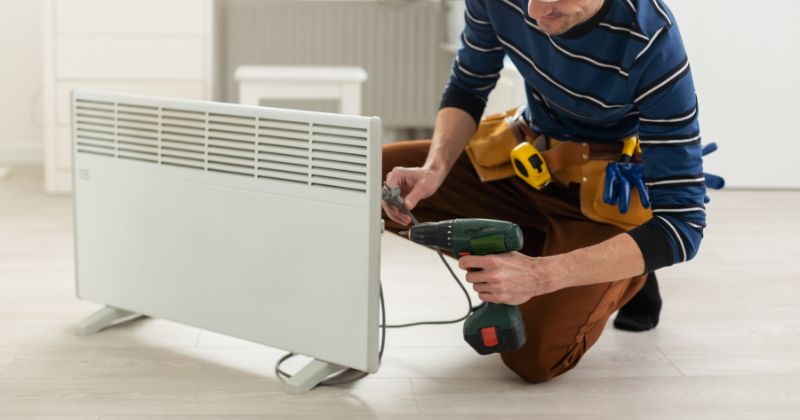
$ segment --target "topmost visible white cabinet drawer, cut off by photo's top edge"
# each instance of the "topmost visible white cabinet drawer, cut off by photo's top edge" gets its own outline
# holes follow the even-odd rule
[[[56,34],[203,34],[210,4],[199,0],[55,0]]]

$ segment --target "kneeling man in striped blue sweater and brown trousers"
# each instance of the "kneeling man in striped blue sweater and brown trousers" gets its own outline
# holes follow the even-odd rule
[[[697,252],[705,183],[695,90],[661,0],[466,3],[462,47],[433,139],[386,146],[384,175],[421,221],[485,217],[520,225],[522,252],[465,256],[459,266],[482,269],[466,274],[482,300],[519,305],[528,341],[502,358],[522,378],[541,382],[578,363],[608,317],[642,289],[646,273]],[[530,128],[549,147],[588,144],[585,163],[556,174],[564,182],[542,191],[517,177],[482,183],[463,153],[506,55],[526,81]],[[615,209],[617,221],[603,219],[591,201],[603,185],[599,165],[614,159],[603,152],[621,150],[632,135],[640,139],[652,211],[641,217]],[[396,208],[384,210],[394,228],[410,222]]]

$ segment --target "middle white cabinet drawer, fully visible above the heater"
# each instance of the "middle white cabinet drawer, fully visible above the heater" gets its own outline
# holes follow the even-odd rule
[[[201,37],[62,37],[55,45],[56,78],[202,80],[205,44]]]

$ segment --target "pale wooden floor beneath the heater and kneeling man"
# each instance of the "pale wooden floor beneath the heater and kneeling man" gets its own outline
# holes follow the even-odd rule
[[[0,180],[0,420],[800,419],[800,192],[715,193],[701,254],[660,273],[661,325],[608,328],[549,383],[454,325],[391,331],[378,374],[293,396],[276,349],[153,319],[75,336],[99,305],[74,297],[71,199],[41,190],[37,167]],[[386,236],[382,273],[390,322],[464,309],[428,250]]]

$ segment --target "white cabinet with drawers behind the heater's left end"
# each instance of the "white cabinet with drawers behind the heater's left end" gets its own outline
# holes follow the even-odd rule
[[[212,98],[213,0],[43,0],[45,189],[72,187],[70,92]]]

